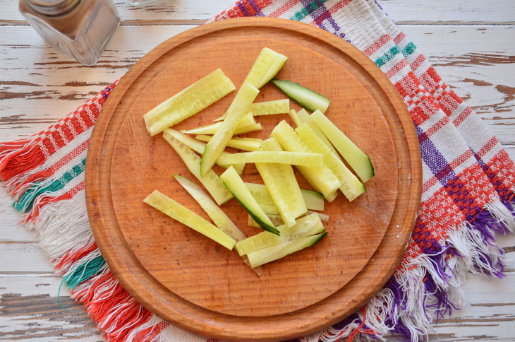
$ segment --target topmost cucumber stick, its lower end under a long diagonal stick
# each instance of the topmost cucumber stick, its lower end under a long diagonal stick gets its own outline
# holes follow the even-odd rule
[[[268,47],[264,47],[243,82],[248,82],[255,88],[260,89],[277,75],[287,60],[288,57],[284,54],[279,54]]]

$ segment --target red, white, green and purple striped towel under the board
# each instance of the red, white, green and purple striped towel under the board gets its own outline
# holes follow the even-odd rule
[[[502,276],[495,235],[515,230],[515,167],[480,118],[444,83],[373,0],[241,0],[210,21],[271,16],[350,42],[392,81],[411,114],[423,159],[418,219],[398,269],[356,314],[301,341],[394,334],[411,341],[462,304],[467,273]],[[116,281],[97,249],[84,196],[92,127],[116,83],[25,140],[0,144],[0,177],[37,232],[57,276],[108,341],[206,341],[163,322]],[[212,340],[208,340],[212,341]]]

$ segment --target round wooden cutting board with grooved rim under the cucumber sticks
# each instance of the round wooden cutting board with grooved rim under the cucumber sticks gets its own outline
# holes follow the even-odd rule
[[[289,57],[278,78],[331,99],[327,117],[375,167],[367,192],[325,203],[329,234],[314,247],[260,267],[233,250],[143,204],[154,189],[209,220],[173,179],[198,182],[161,134],[147,134],[143,114],[221,68],[239,87],[263,47]],[[174,129],[210,124],[227,95]],[[271,83],[256,102],[286,98]],[[291,101],[291,107],[300,107]],[[256,117],[267,138],[287,114]],[[292,124],[293,125],[293,124]],[[214,167],[220,174],[222,168]],[[167,40],[131,68],[109,96],[93,131],[86,164],[87,209],[102,256],[136,300],[163,319],[226,340],[284,340],[338,322],[392,275],[413,229],[420,201],[420,154],[406,107],[386,76],[339,37],[310,25],[242,18],[202,25]],[[247,182],[260,182],[246,165]],[[301,187],[310,189],[298,175]],[[222,206],[246,235],[248,214]]]

